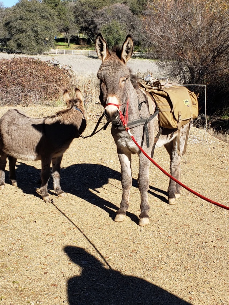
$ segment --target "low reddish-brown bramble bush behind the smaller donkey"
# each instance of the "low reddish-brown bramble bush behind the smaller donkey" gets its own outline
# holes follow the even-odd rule
[[[71,69],[23,57],[0,60],[1,106],[52,104],[73,88],[77,77]]]

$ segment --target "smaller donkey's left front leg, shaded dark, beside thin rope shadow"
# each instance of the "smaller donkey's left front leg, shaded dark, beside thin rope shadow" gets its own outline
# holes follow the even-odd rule
[[[48,180],[50,177],[51,158],[41,158],[41,187],[40,194],[44,201],[51,202],[48,195]]]

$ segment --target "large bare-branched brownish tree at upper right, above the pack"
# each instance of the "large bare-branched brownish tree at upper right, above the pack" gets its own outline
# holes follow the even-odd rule
[[[220,77],[228,81],[228,1],[151,0],[143,26],[168,76],[184,84],[207,84],[209,90],[219,86]],[[229,89],[223,90],[225,100]]]

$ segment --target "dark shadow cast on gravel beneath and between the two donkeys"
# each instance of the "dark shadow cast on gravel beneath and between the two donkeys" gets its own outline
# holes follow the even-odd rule
[[[110,178],[121,181],[121,173],[107,166],[91,163],[74,164],[61,169],[61,187],[64,192],[80,197],[93,205],[98,206],[114,219],[118,206],[97,195],[101,192],[101,190],[98,189],[104,188],[104,186],[109,183]],[[40,195],[36,193],[36,188],[40,187],[39,180],[40,169],[17,162],[18,186],[24,193],[40,197]],[[136,179],[133,179],[133,187],[137,187]],[[120,188],[122,188],[121,184]],[[50,194],[56,195],[54,192],[50,191],[50,189],[53,189],[52,178],[50,178],[48,189]],[[113,187],[112,191],[117,193],[116,186]],[[167,198],[165,197],[167,196],[167,192],[150,186],[148,193],[167,203]],[[58,200],[61,200],[58,197],[56,198],[57,202]],[[117,200],[121,201],[121,195],[117,194]],[[132,221],[138,223],[139,219],[135,214],[127,211],[126,215]]]

